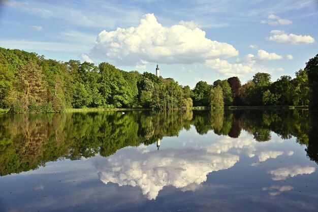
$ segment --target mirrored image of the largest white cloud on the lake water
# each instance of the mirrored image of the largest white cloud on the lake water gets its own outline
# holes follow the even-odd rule
[[[211,154],[204,149],[164,149],[160,154],[153,154],[132,148],[129,153],[92,160],[103,183],[140,187],[143,195],[151,200],[165,186],[195,191],[209,173],[234,166],[239,157]]]

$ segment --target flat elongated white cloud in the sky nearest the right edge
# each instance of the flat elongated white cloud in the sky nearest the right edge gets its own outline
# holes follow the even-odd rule
[[[272,36],[268,37],[267,39],[270,41],[278,42],[278,43],[288,43],[288,44],[301,44],[301,43],[314,43],[315,40],[311,36],[302,36],[302,35],[295,35],[295,34],[287,34],[284,31],[280,30],[272,30]]]

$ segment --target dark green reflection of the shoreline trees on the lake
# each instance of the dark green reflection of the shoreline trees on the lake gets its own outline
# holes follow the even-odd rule
[[[63,158],[78,160],[96,154],[107,157],[125,146],[149,145],[163,137],[178,136],[181,130],[189,130],[191,126],[200,135],[213,131],[229,138],[239,138],[244,130],[259,142],[270,140],[271,132],[282,139],[294,136],[297,142],[307,146],[310,160],[318,163],[317,120],[318,115],[308,110],[125,111],[124,115],[118,111],[2,114],[0,175],[36,169],[45,166],[46,162]],[[267,153],[270,157],[279,154]],[[259,157],[260,162],[264,160]]]

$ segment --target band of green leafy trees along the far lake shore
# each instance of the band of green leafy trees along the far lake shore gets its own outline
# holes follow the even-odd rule
[[[270,74],[257,72],[243,85],[233,76],[213,84],[199,81],[191,89],[172,78],[126,72],[106,62],[60,62],[0,47],[0,108],[42,113],[67,108],[318,107],[318,54],[295,74],[272,82]]]

